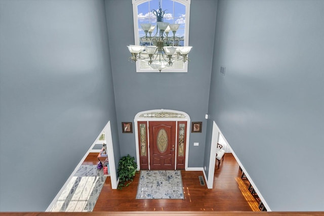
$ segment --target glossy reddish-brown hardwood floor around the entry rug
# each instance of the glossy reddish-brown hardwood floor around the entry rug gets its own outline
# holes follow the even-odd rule
[[[83,164],[97,164],[98,153],[90,153]],[[139,173],[123,190],[112,190],[110,178],[101,190],[93,211],[258,211],[258,201],[251,198],[248,180],[231,153],[226,153],[220,168],[215,168],[214,188],[201,186],[202,171],[182,171],[185,199],[135,199]],[[250,197],[249,197],[250,195]]]

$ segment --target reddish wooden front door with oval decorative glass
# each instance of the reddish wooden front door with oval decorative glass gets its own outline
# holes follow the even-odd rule
[[[176,122],[150,121],[150,169],[175,170]]]

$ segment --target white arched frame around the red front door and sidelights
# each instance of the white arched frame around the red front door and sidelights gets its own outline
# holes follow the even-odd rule
[[[151,113],[176,113],[179,114],[179,117],[156,117],[152,116]],[[147,114],[147,117],[143,117],[143,114]],[[182,117],[181,117],[182,116]],[[186,134],[186,153],[185,153],[185,170],[188,169],[188,155],[189,155],[189,135],[190,135],[190,117],[187,113],[177,110],[169,110],[169,109],[155,109],[155,110],[146,110],[139,112],[135,115],[134,118],[134,128],[135,128],[135,145],[136,145],[136,161],[137,161],[137,169],[140,170],[140,153],[139,153],[139,139],[138,139],[138,121],[146,121],[147,122],[147,147],[148,147],[148,158],[149,155],[149,132],[148,132],[148,123],[149,121],[176,121],[176,125],[178,124],[178,121],[187,121],[187,134]],[[176,130],[176,149],[178,147],[178,140],[177,140],[177,130]],[[177,154],[175,154],[175,157]],[[175,168],[177,166],[177,163],[175,162]],[[149,166],[150,167],[150,166]]]

